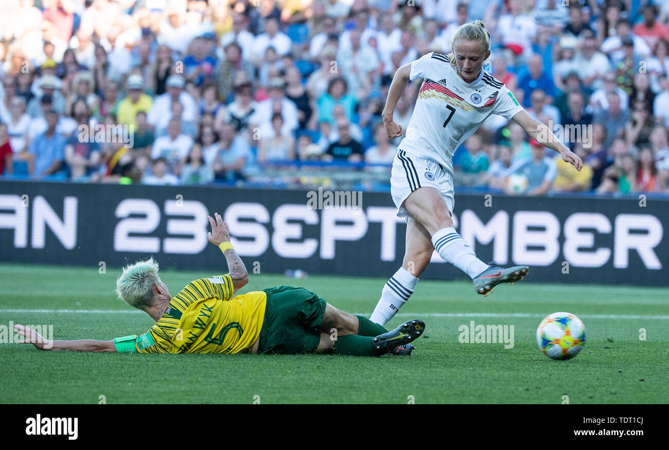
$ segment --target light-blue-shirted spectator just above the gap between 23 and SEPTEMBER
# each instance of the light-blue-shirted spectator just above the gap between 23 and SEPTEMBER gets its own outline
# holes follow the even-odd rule
[[[251,156],[248,142],[242,136],[237,136],[232,124],[224,123],[213,162],[215,179],[228,183],[244,180],[244,168]]]

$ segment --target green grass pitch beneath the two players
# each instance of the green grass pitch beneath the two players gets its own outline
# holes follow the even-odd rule
[[[0,325],[51,324],[54,338],[66,340],[141,334],[153,321],[116,299],[118,273],[111,267],[101,274],[98,267],[0,264]],[[173,295],[191,279],[210,275],[161,272]],[[409,357],[94,354],[2,343],[0,403],[96,404],[104,396],[108,404],[559,404],[565,395],[572,404],[667,403],[669,288],[571,285],[569,275],[559,281],[533,283],[530,273],[488,298],[465,281],[420,282],[387,324],[425,320],[425,334]],[[369,316],[385,282],[250,275],[241,293],[304,286],[337,308]],[[585,348],[568,361],[547,358],[535,343],[541,319],[558,311],[579,316],[587,331]],[[460,343],[458,328],[472,320],[513,325],[513,348]]]

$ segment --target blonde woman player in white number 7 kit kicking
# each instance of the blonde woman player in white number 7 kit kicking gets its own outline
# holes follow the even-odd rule
[[[488,296],[500,283],[514,283],[529,267],[486,264],[454,228],[453,154],[490,114],[513,120],[580,171],[583,162],[559,142],[547,126],[529,116],[513,94],[482,69],[490,57],[490,34],[482,21],[465,23],[451,39],[452,53],[427,53],[401,66],[393,78],[383,110],[388,136],[402,134],[393,122],[397,100],[409,80],[422,79],[405,138],[397,148],[391,195],[397,215],[406,217],[406,250],[402,267],[383,287],[372,322],[384,325],[413,293],[418,277],[436,251],[466,272],[478,294]],[[411,271],[409,270],[411,269]]]

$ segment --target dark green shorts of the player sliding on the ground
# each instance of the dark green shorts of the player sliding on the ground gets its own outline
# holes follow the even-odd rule
[[[311,353],[320,342],[325,300],[304,288],[265,289],[267,305],[258,353]]]

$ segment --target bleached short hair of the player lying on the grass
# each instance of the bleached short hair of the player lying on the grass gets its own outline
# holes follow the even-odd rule
[[[153,284],[158,281],[158,263],[150,257],[123,268],[116,279],[116,294],[132,308],[146,310],[153,304]]]

